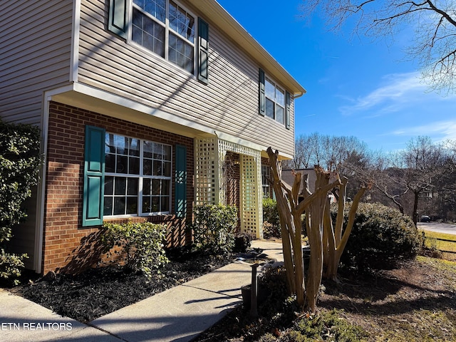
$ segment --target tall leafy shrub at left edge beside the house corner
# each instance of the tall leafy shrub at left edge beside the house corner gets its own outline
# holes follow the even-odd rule
[[[0,278],[18,283],[26,254],[9,253],[15,224],[27,217],[24,201],[38,185],[41,166],[40,130],[0,120]]]

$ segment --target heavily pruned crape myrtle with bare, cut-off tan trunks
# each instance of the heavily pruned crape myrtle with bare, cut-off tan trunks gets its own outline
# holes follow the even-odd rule
[[[284,264],[289,291],[296,294],[296,301],[300,306],[307,307],[314,312],[316,310],[318,289],[323,276],[323,266],[326,266],[325,276],[336,279],[337,266],[353,226],[354,214],[358,202],[366,189],[362,188],[356,195],[349,213],[348,224],[345,229],[342,229],[346,178],[341,180],[337,173],[331,174],[331,172],[324,171],[322,167],[315,166],[315,191],[311,193],[307,179],[304,180],[306,190],[304,200],[300,202],[301,173],[295,173],[294,184],[289,190],[281,180],[281,164],[278,160],[279,152],[273,152],[271,147],[268,148],[267,152],[271,165],[271,182],[276,194],[277,209],[279,211]],[[333,227],[329,211],[328,192],[335,188],[339,194],[339,212],[336,225]],[[311,249],[307,281],[304,279],[304,260],[301,245],[303,226],[301,215],[304,213],[306,233],[309,237]],[[341,216],[339,217],[340,214]]]

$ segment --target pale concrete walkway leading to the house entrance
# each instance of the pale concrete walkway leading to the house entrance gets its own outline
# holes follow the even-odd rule
[[[252,247],[283,261],[280,243],[256,240]],[[251,269],[234,262],[88,324],[0,289],[0,341],[190,341],[242,304]]]

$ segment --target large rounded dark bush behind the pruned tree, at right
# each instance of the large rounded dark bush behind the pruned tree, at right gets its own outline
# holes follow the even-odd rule
[[[344,225],[347,222],[346,208]],[[336,208],[333,208],[333,219]],[[358,271],[389,269],[397,261],[412,259],[423,245],[410,217],[383,204],[360,203],[341,262]]]

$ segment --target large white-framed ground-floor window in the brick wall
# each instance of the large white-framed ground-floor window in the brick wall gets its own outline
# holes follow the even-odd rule
[[[103,216],[168,214],[172,147],[106,133]]]

